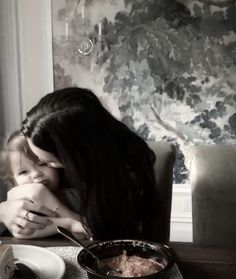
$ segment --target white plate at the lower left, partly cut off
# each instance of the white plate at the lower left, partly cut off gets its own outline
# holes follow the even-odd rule
[[[16,262],[31,268],[40,279],[61,279],[65,273],[65,262],[55,253],[38,246],[12,244]]]

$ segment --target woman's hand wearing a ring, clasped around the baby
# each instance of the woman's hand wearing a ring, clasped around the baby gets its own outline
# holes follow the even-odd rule
[[[7,200],[0,203],[0,220],[13,236],[30,235],[35,230],[46,228],[52,223],[47,217],[38,216],[30,211],[55,216],[51,210],[27,200]]]

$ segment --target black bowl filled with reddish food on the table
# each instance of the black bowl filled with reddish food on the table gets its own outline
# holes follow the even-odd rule
[[[89,279],[164,278],[175,263],[174,254],[167,245],[143,240],[98,241],[87,248],[102,265],[85,249],[77,256],[80,267]]]

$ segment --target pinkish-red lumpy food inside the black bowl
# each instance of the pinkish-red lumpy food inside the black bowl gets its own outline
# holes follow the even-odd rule
[[[164,268],[164,265],[152,259],[141,258],[139,256],[127,256],[124,250],[122,255],[104,259],[111,271],[116,271],[120,277],[141,277],[157,273]],[[109,275],[109,273],[108,273]]]

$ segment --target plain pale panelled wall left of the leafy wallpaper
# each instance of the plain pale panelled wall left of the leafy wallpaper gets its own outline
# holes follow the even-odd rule
[[[51,1],[0,1],[0,147],[53,90]],[[0,179],[0,202],[6,199]],[[0,223],[0,233],[4,226]]]

